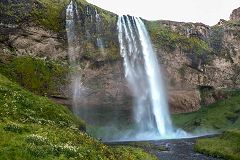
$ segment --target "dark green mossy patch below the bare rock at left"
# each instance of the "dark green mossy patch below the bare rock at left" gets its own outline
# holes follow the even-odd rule
[[[56,95],[66,83],[68,67],[54,61],[30,56],[2,55],[0,73],[40,95]]]

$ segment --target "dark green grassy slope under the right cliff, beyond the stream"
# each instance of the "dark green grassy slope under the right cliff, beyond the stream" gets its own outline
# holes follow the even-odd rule
[[[202,107],[197,112],[173,115],[175,126],[190,132],[240,128],[239,91],[231,95],[233,97]]]

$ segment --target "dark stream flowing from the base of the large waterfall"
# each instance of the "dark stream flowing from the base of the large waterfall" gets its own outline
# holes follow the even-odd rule
[[[221,160],[194,151],[198,138],[173,139],[142,142],[108,142],[107,145],[128,145],[140,147],[161,160]]]

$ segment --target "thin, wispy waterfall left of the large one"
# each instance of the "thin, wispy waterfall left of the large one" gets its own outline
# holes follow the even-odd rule
[[[81,73],[80,67],[77,62],[77,55],[79,53],[79,40],[76,30],[76,21],[79,19],[79,14],[77,12],[76,2],[71,1],[66,9],[66,32],[68,39],[68,56],[69,63],[72,68],[71,78],[71,90],[73,98],[73,110],[75,113],[78,112],[78,104],[81,99],[81,92],[83,90],[81,84]]]

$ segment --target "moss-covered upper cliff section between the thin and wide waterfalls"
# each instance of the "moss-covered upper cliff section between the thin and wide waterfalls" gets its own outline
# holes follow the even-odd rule
[[[120,58],[117,37],[117,15],[97,6],[81,1],[77,2],[77,34],[78,46],[82,50],[77,53],[80,59],[96,61],[115,61]],[[102,41],[102,48],[98,46]]]

